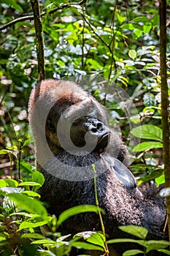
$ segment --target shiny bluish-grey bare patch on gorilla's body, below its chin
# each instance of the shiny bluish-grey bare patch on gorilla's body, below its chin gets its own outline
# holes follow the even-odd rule
[[[115,176],[126,189],[136,188],[136,180],[128,168],[115,158]]]

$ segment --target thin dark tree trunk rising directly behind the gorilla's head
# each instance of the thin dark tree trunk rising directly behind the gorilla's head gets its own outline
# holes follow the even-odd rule
[[[36,51],[38,60],[38,81],[45,79],[45,51],[42,31],[42,22],[39,12],[39,0],[31,0],[31,6],[34,13],[34,25],[36,31]]]

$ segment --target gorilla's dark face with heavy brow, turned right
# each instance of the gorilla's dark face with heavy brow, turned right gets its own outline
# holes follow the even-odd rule
[[[101,154],[109,143],[107,115],[95,99],[57,102],[46,121],[46,138],[53,154],[60,151]]]

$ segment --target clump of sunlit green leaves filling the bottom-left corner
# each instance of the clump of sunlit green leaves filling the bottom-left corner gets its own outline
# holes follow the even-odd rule
[[[79,233],[70,238],[71,235],[61,236],[57,232],[69,217],[88,211],[98,214],[98,208],[75,206],[61,213],[58,219],[51,217],[39,200],[40,195],[35,192],[44,181],[38,171],[33,173],[31,181],[1,180],[1,255],[67,255],[72,247],[103,251],[104,236],[101,233]],[[80,238],[85,238],[85,241],[79,241]]]

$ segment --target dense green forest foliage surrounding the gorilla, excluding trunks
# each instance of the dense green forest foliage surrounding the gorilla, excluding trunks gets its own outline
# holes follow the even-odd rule
[[[27,112],[28,97],[37,78],[31,3],[28,0],[1,0],[0,11],[1,255],[26,255],[26,252],[27,255],[66,255],[72,246],[105,251],[101,233],[80,233],[71,238],[61,236],[57,231],[58,225],[67,217],[83,211],[97,211],[95,207],[80,206],[56,219],[47,214],[39,201],[36,190],[42,186],[44,178],[34,167],[34,147],[31,145]],[[47,0],[40,2],[40,12],[45,37],[46,78],[98,75],[125,89],[139,113],[137,118],[131,118],[134,127],[131,133],[129,120],[120,105],[112,97],[104,100],[107,89],[103,92],[95,88],[90,93],[104,102],[115,116],[115,124],[120,124],[127,146],[131,135],[142,138],[142,142],[134,147],[137,155],[131,165],[139,184],[150,180],[162,184],[159,16],[156,1],[139,4],[137,0],[90,0],[86,3]],[[29,18],[23,19],[23,16]],[[17,23],[4,28],[5,24],[17,18],[20,18]],[[169,30],[167,32],[169,43]],[[169,67],[169,48],[167,64]],[[133,230],[136,236],[135,228]],[[80,238],[85,241],[80,241]],[[164,249],[166,244],[149,244],[145,237],[139,238],[144,252],[155,243],[154,248],[169,255]],[[125,255],[136,253],[126,252]]]

